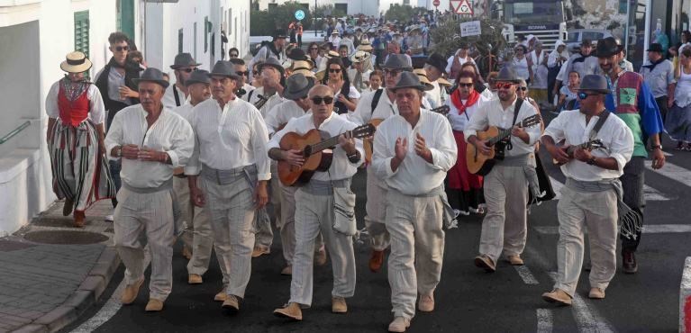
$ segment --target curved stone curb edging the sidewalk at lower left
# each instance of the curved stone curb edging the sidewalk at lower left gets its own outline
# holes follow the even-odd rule
[[[89,274],[67,301],[13,332],[55,332],[68,326],[98,301],[118,266],[120,257],[115,248],[106,246]]]

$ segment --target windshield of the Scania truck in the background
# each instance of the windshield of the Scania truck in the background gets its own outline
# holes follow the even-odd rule
[[[561,22],[559,1],[514,1],[504,3],[505,23],[530,24]]]

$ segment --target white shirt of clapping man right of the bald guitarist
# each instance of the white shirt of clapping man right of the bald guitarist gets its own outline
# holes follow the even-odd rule
[[[432,163],[415,153],[416,134],[420,133],[432,151]],[[396,157],[396,139],[408,139],[408,153],[396,171],[391,159]],[[383,121],[374,135],[372,166],[386,185],[406,195],[430,193],[444,183],[447,171],[456,164],[456,140],[446,118],[435,112],[420,111],[420,120],[413,128],[400,115]]]

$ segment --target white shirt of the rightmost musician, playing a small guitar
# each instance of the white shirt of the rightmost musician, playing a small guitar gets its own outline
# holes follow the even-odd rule
[[[550,122],[542,136],[549,136],[555,142],[566,139],[567,145],[579,145],[589,140],[590,130],[595,127],[599,118],[594,116],[586,123],[586,115],[579,110],[562,111],[559,112],[559,117]],[[623,166],[629,162],[633,154],[632,131],[621,118],[610,114],[602,128],[597,131],[596,139],[601,139],[605,148],[594,149],[593,156],[614,157],[618,169],[608,170],[590,166],[574,158],[561,166],[561,172],[565,176],[579,181],[600,181],[623,175]]]

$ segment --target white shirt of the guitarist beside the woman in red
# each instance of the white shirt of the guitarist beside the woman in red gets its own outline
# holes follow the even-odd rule
[[[477,135],[478,130],[486,130],[488,126],[496,126],[503,129],[512,127],[511,121],[514,121],[514,107],[517,100],[518,98],[515,98],[514,103],[511,103],[506,109],[502,107],[499,98],[482,104],[477,112],[470,117],[466,130],[463,131],[466,141],[468,141],[471,135]],[[528,101],[523,101],[521,109],[518,111],[516,123],[533,114],[537,114],[535,108]],[[528,133],[528,143],[523,142],[523,139],[511,136],[511,144],[514,148],[511,150],[505,149],[505,156],[516,157],[535,151],[535,142],[540,139],[541,135],[540,125],[526,127],[524,130]]]

